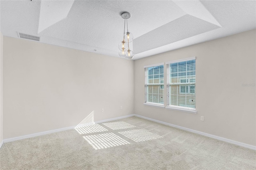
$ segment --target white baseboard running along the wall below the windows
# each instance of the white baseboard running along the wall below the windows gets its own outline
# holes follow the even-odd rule
[[[242,143],[242,142],[237,142],[235,140],[230,140],[230,139],[227,139],[227,138],[222,138],[220,136],[215,136],[215,135],[212,135],[212,134],[200,132],[200,131],[193,130],[193,129],[190,129],[190,128],[180,127],[180,126],[177,126],[177,125],[173,125],[173,124],[170,124],[170,123],[158,121],[158,120],[155,120],[155,119],[151,119],[151,118],[140,116],[140,115],[136,115],[136,114],[134,114],[134,116],[140,117],[142,119],[147,119],[147,120],[150,120],[150,121],[153,121],[153,122],[161,123],[161,124],[164,124],[164,125],[168,125],[170,127],[175,127],[175,128],[179,128],[179,129],[182,129],[182,130],[189,131],[189,132],[201,134],[203,136],[207,136],[207,137],[210,137],[210,138],[214,138],[214,139],[218,139],[218,140],[221,140],[221,141],[224,141],[224,142],[228,142],[228,143],[231,143],[231,144],[242,146],[244,148],[249,148],[249,149],[252,149],[252,150],[256,150],[256,146],[254,146],[254,145],[250,145],[250,144],[246,144],[246,143]]]

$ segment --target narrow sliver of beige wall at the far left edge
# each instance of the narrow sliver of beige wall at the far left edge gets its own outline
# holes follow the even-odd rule
[[[0,144],[3,141],[3,35],[0,32]]]

